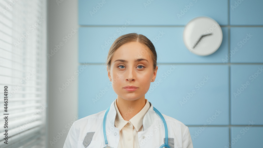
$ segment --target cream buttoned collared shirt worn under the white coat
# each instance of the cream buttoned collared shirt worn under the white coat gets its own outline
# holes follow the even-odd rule
[[[143,131],[143,117],[150,108],[150,103],[145,99],[144,107],[129,121],[123,119],[117,107],[117,99],[115,100],[115,108],[117,111],[115,126],[119,129],[120,141],[118,148],[139,148],[138,132]],[[132,108],[127,110],[127,114],[132,111]],[[125,114],[123,114],[125,116]]]

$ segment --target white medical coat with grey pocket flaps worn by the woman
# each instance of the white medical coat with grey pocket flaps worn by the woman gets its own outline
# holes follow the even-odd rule
[[[95,133],[86,148],[105,147],[102,128],[104,113],[105,110],[75,121],[69,129],[63,148],[84,148],[83,140],[89,132]],[[113,101],[107,114],[105,129],[108,146],[114,148],[118,147],[120,139],[119,129],[114,126],[116,115],[117,112]],[[174,138],[174,148],[193,148],[188,127],[174,118],[162,115],[167,124],[168,138]],[[138,132],[138,138],[140,148],[159,148],[164,144],[164,124],[159,115],[153,110],[153,105],[150,106],[143,118],[143,131]]]

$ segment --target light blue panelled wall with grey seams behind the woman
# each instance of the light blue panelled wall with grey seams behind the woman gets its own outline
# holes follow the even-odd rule
[[[136,32],[158,55],[156,81],[145,98],[187,125],[195,148],[261,147],[262,7],[259,0],[79,0],[79,117],[117,98],[106,57],[116,38]],[[223,32],[220,48],[205,57],[190,53],[182,39],[184,25],[197,16],[215,19]]]

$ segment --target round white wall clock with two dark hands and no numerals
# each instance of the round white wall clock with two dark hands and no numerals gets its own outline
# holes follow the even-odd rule
[[[210,55],[221,45],[220,25],[209,17],[196,17],[184,27],[183,40],[186,48],[197,55]]]

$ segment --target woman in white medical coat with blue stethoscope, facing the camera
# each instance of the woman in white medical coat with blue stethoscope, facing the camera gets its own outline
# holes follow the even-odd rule
[[[156,65],[155,47],[144,35],[130,33],[117,38],[109,49],[107,70],[118,97],[106,111],[75,121],[64,148],[192,148],[188,127],[158,114],[145,99],[156,77]]]

